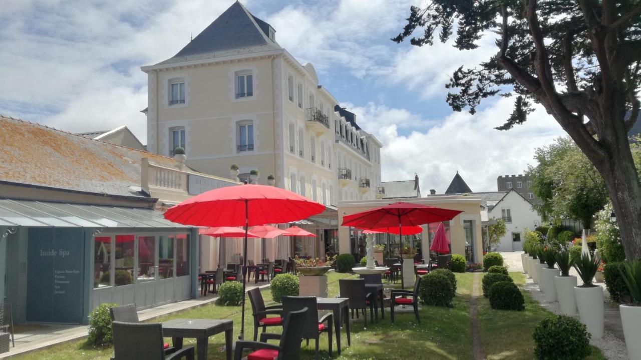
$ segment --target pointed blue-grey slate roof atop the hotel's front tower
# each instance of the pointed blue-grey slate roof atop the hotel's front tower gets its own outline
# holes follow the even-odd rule
[[[269,38],[269,28],[237,1],[178,54],[156,65],[281,49]]]

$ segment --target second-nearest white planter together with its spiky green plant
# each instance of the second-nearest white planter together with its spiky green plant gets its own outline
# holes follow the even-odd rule
[[[581,322],[587,326],[588,332],[594,339],[601,339],[603,336],[603,288],[592,284],[600,264],[601,260],[590,258],[590,254],[582,254],[581,258],[574,263],[574,268],[583,281],[583,285],[574,286],[576,307],[579,309]]]

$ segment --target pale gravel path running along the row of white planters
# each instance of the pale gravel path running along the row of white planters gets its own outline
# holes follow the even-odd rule
[[[503,256],[503,265],[508,268],[510,272],[523,272],[523,265],[521,263],[519,252],[499,252]],[[577,275],[576,270],[572,268],[570,270],[570,275]],[[580,282],[580,279],[579,279]],[[613,304],[610,303],[610,294],[605,290],[603,283],[595,282],[594,284],[600,285],[603,287],[604,299],[606,299],[605,306],[605,329],[603,333],[603,338],[599,340],[590,340],[590,344],[601,349],[603,355],[608,359],[617,359],[617,360],[627,360],[628,350],[626,349],[626,343],[623,340],[623,334],[621,331],[621,318],[619,315],[619,308],[613,307]],[[550,311],[554,314],[560,314],[560,307],[558,302],[547,302],[545,300],[545,295],[538,289],[538,285],[532,282],[532,279],[526,279],[526,283],[523,285],[524,290],[529,291],[531,297],[547,311]],[[575,316],[577,319],[579,316]]]

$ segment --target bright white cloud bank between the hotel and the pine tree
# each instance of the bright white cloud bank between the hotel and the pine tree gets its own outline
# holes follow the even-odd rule
[[[424,193],[445,192],[458,171],[472,191],[495,191],[496,178],[522,174],[533,163],[534,150],[563,135],[556,121],[537,108],[525,124],[510,131],[495,130],[512,111],[512,99],[500,98],[476,115],[452,113],[427,120],[403,109],[370,103],[352,107],[360,126],[383,143],[383,181],[420,178]],[[399,128],[415,122],[415,131],[399,135]],[[438,124],[428,127],[429,124]]]

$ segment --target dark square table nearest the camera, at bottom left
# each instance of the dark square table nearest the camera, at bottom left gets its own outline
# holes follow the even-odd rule
[[[224,331],[227,360],[231,360],[233,325],[232,320],[174,319],[162,323],[162,332],[177,350],[183,348],[183,338],[196,338],[196,359],[207,360],[209,337]]]

